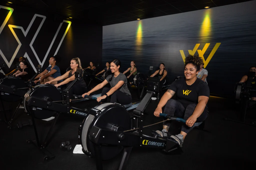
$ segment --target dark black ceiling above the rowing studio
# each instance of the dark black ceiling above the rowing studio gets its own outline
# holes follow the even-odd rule
[[[251,0],[7,0],[72,19],[90,19],[102,25],[135,21],[235,4]]]

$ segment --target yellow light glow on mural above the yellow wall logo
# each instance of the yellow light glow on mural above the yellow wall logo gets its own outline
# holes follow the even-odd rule
[[[200,29],[200,42],[209,41],[211,36],[211,9],[205,10],[204,21]]]

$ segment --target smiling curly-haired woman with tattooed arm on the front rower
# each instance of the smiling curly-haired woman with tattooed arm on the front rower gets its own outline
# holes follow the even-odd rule
[[[196,77],[202,62],[203,60],[198,55],[189,55],[185,59],[185,77],[174,81],[170,85],[154,112],[154,115],[159,117],[162,108],[165,106],[165,114],[186,120],[186,124],[182,125],[180,134],[171,136],[179,143],[180,147],[182,147],[186,135],[192,130],[194,123],[202,122],[208,116],[207,102],[210,90],[204,81]],[[176,100],[171,99],[175,93]],[[170,122],[165,121],[163,122],[163,130],[157,130],[156,132],[161,137],[167,136],[169,126]]]

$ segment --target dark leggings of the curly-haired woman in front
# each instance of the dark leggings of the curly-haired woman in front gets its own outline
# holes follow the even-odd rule
[[[183,104],[181,102],[174,100],[174,99],[170,99],[167,101],[163,113],[168,114],[170,116],[180,117],[180,118],[187,120],[193,114],[193,112],[196,108],[196,105],[197,104],[195,104],[195,103],[189,104],[185,109],[185,107],[183,106]],[[207,118],[208,113],[209,113],[209,111],[206,106],[204,112],[197,118],[196,122],[204,121]],[[164,118],[164,120],[166,120],[166,118]],[[169,127],[170,121],[163,122],[163,125]],[[182,124],[181,131],[183,131],[185,133],[189,133],[190,130],[192,130],[192,127],[188,127],[185,123]]]

